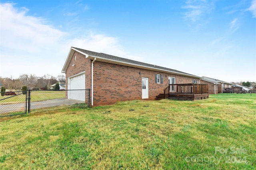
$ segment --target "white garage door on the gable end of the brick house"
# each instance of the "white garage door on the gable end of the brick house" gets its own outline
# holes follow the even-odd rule
[[[85,101],[85,74],[69,78],[68,99]]]

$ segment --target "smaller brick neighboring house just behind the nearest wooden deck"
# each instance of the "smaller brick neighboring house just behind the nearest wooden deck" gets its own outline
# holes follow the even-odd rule
[[[205,76],[200,78],[200,83],[208,84],[209,94],[223,93],[232,88],[232,83]]]

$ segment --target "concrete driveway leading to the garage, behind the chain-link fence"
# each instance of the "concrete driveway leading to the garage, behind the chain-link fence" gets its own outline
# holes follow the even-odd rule
[[[83,101],[73,100],[73,99],[52,99],[45,100],[40,102],[31,102],[30,109],[39,109],[44,107],[54,107],[54,106],[63,106],[63,105],[73,105],[84,103]],[[4,113],[13,113],[13,112],[23,112],[25,111],[25,102],[16,103],[16,104],[0,104],[0,116],[5,115]]]

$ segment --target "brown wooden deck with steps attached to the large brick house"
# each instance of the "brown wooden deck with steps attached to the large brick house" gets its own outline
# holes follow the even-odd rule
[[[156,100],[202,100],[208,97],[208,84],[169,84]]]

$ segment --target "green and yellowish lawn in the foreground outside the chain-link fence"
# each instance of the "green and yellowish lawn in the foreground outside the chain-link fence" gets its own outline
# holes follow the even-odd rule
[[[38,109],[0,122],[0,169],[256,169],[255,122],[256,94]]]

